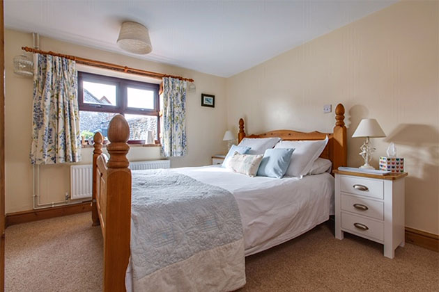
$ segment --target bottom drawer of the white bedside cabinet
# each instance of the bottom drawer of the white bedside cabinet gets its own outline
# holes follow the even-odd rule
[[[378,241],[384,240],[384,222],[341,212],[341,229],[354,232],[360,236],[365,235],[376,238]]]

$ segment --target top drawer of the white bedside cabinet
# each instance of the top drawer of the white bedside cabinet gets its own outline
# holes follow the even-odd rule
[[[383,199],[384,182],[381,179],[362,179],[361,177],[340,177],[340,190],[344,193],[364,195]]]

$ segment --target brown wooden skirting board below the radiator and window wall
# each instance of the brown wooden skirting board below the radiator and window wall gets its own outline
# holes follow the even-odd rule
[[[91,211],[91,201],[71,204],[67,206],[56,206],[53,208],[8,213],[6,214],[5,225],[6,227],[8,227],[10,225],[49,219],[59,216],[72,215],[88,211]]]

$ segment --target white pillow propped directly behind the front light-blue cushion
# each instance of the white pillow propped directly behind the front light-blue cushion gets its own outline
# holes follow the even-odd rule
[[[325,140],[281,141],[277,143],[275,148],[295,148],[285,175],[288,177],[307,175],[314,161],[322,154],[326,144],[328,144],[328,136]]]

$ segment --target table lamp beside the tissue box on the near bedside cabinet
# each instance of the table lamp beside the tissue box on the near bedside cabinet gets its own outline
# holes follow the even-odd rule
[[[381,129],[380,124],[375,119],[363,119],[358,124],[357,129],[352,135],[353,138],[366,138],[366,141],[360,147],[360,155],[364,159],[364,165],[360,168],[373,170],[373,166],[369,165],[369,161],[372,159],[372,154],[375,152],[375,148],[372,146],[370,138],[383,138],[385,133]]]

